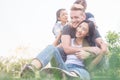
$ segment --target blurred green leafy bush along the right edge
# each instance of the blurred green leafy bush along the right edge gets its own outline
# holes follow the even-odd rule
[[[109,31],[106,39],[109,43],[110,50],[110,76],[114,80],[120,80],[120,33]]]

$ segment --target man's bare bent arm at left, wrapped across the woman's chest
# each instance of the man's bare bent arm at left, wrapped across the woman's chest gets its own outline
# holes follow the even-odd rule
[[[82,48],[72,47],[71,46],[71,37],[69,35],[62,35],[61,40],[62,40],[62,47],[66,54],[77,53],[81,50],[88,51],[90,53],[94,53],[95,55],[102,52],[101,51],[102,49],[100,49],[98,47],[90,47],[90,46],[82,47]],[[104,45],[102,47],[104,47]]]

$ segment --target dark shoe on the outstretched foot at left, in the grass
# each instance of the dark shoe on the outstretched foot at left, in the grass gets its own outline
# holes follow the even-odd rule
[[[34,78],[35,77],[35,71],[31,64],[24,65],[23,69],[20,73],[21,78]]]

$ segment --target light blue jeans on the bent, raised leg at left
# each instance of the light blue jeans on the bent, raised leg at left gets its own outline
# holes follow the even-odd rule
[[[65,63],[61,54],[53,45],[48,45],[41,53],[38,54],[36,59],[38,59],[42,63],[42,66],[45,67],[53,57],[55,58],[58,67],[67,70],[66,66],[64,66]]]

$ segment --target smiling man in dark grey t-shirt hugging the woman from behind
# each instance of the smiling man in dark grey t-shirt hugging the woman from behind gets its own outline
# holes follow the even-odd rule
[[[77,27],[78,24],[80,24],[83,20],[85,20],[85,13],[84,11],[81,9],[81,8],[75,8],[75,7],[72,7],[71,8],[71,12],[70,12],[70,17],[71,17],[71,26],[65,26],[64,29],[63,29],[63,35],[62,35],[62,47],[65,51],[66,54],[73,54],[73,53],[81,53],[81,54],[78,54],[78,57],[81,58],[81,59],[86,59],[89,54],[86,54],[85,51],[82,51],[82,50],[89,50],[91,51],[91,49],[93,48],[90,48],[90,47],[84,47],[84,48],[74,48],[74,47],[71,47],[70,45],[70,40],[72,37],[75,37],[75,29]],[[100,37],[95,37],[95,41],[96,43],[100,46],[101,48],[101,53],[103,53],[105,51],[105,48],[106,46],[104,45],[102,39]],[[34,73],[34,69],[41,69],[42,67],[44,67],[44,63],[43,63],[43,60],[47,60],[47,54],[44,54],[44,53],[48,53],[48,54],[52,54],[54,52],[56,52],[56,49],[57,48],[54,48],[54,46],[48,46],[47,48],[45,48],[41,53],[38,54],[38,56],[32,60],[32,62],[29,64],[29,65],[26,65],[24,66],[24,68],[22,69],[21,71],[21,76],[23,76],[25,74],[25,72],[29,71],[29,72],[32,72]],[[98,52],[98,48],[94,48],[94,53]],[[57,50],[58,51],[58,50]],[[46,57],[42,57],[42,56],[45,56]],[[97,62],[99,62],[99,60],[101,59],[103,55],[100,56],[100,58],[98,59]],[[41,60],[43,59],[43,60]],[[97,63],[96,63],[97,64]],[[34,74],[32,74],[34,75]]]

